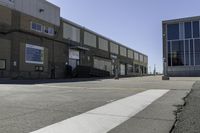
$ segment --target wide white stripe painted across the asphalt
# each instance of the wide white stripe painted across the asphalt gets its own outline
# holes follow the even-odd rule
[[[32,133],[106,133],[127,121],[169,90],[148,90],[50,125]]]

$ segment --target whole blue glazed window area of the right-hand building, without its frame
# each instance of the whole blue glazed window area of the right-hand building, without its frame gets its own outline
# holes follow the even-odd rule
[[[200,21],[167,25],[168,66],[200,66]]]

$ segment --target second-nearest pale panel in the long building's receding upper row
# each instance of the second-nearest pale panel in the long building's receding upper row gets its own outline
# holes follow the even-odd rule
[[[84,32],[84,44],[91,46],[91,47],[97,47],[97,40],[96,36],[94,34],[91,34],[89,32]]]

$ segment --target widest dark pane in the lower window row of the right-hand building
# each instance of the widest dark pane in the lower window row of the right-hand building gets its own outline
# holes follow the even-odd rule
[[[184,65],[184,43],[183,41],[172,42],[172,66]]]

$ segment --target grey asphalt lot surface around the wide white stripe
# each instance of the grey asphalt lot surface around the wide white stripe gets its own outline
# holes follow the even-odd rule
[[[0,84],[0,133],[33,132],[152,89],[169,91],[109,132],[168,133],[176,119],[176,106],[184,103],[182,98],[190,92],[197,80],[200,78],[171,78],[170,81],[162,81],[160,76],[156,76]]]

